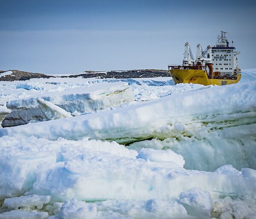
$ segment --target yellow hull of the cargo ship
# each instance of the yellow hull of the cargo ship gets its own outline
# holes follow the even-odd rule
[[[205,70],[195,69],[170,69],[170,75],[175,84],[178,83],[193,83],[203,85],[227,85],[236,84],[241,79],[241,74],[237,74],[236,79],[214,79],[208,78]],[[214,74],[214,73],[213,73]]]

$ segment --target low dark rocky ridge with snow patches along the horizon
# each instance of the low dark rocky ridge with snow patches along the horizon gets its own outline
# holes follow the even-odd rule
[[[141,69],[141,70],[128,70],[128,71],[110,71],[110,72],[94,72],[85,71],[81,74],[69,75],[69,76],[50,76],[40,73],[23,72],[19,70],[11,70],[12,75],[6,75],[0,78],[0,81],[25,81],[31,78],[156,78],[156,77],[169,77],[169,72],[167,70],[158,69]],[[5,71],[0,71],[3,73]]]

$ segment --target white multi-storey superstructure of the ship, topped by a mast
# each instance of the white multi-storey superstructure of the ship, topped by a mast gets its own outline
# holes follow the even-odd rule
[[[221,35],[217,37],[216,46],[212,46],[212,65],[213,72],[220,72],[221,75],[233,75],[241,70],[238,66],[236,55],[240,54],[235,51],[235,47],[229,46],[229,42],[225,36],[227,32],[221,31]]]

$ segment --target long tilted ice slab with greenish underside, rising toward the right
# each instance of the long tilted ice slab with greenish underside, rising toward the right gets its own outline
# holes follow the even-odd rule
[[[4,128],[0,136],[4,135],[49,140],[88,137],[130,144],[135,150],[169,148],[184,157],[189,169],[213,171],[225,164],[255,169],[256,81]]]

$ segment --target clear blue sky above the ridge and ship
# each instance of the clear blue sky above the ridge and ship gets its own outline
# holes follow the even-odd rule
[[[256,68],[256,3],[215,0],[0,0],[0,70],[42,73],[167,69],[184,43],[221,30]]]

